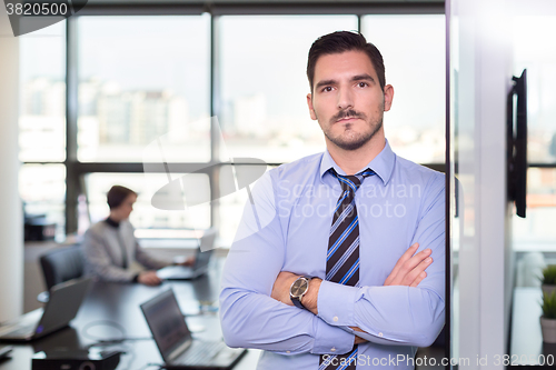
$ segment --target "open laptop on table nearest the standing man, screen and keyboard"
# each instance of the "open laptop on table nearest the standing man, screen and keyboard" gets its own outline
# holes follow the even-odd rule
[[[165,369],[231,369],[247,353],[224,341],[200,341],[191,337],[173,290],[167,290],[141,304]]]

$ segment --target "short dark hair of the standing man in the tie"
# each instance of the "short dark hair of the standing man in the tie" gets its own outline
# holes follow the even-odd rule
[[[315,66],[317,60],[327,54],[341,53],[345,51],[358,50],[365,52],[375,67],[378,76],[378,83],[384,91],[386,84],[384,60],[380,51],[373,43],[367,42],[365,37],[359,32],[351,31],[336,31],[319,37],[309,50],[309,58],[307,61],[307,78],[309,79],[311,92],[312,82],[315,79]]]

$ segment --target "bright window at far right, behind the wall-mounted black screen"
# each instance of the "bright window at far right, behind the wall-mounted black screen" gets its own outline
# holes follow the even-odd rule
[[[556,229],[556,51],[543,36],[556,34],[554,16],[516,16],[514,74],[527,69],[527,217],[514,217],[519,251],[554,251]],[[546,166],[539,168],[537,166]]]

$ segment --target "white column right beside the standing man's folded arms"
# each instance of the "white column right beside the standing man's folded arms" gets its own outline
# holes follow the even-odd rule
[[[457,124],[455,141],[463,189],[458,356],[470,360],[469,366],[460,369],[502,370],[513,288],[506,200],[509,21],[505,0],[453,0],[451,6],[459,32],[454,44],[458,66],[457,102],[453,109],[457,113],[451,124]],[[481,360],[477,362],[478,359]]]

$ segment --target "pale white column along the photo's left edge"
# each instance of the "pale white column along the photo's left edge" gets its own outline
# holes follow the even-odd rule
[[[19,40],[0,4],[0,321],[22,313],[23,220],[18,191]]]

